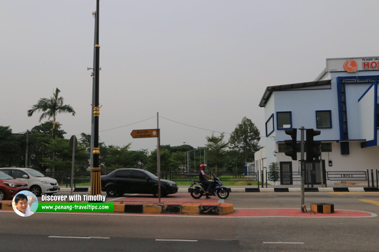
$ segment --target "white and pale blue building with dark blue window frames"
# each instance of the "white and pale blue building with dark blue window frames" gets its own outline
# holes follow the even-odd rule
[[[267,87],[259,103],[265,109],[266,146],[255,153],[255,167],[279,162],[280,184],[300,184],[299,162],[285,156],[291,137],[285,129],[321,131],[320,162],[313,162],[316,180],[329,175],[334,184],[359,180],[355,171],[379,169],[379,57],[326,59],[314,81]],[[300,141],[300,130],[297,131]],[[306,140],[306,139],[305,139]],[[299,150],[300,151],[300,150]],[[298,152],[300,160],[300,152]],[[312,163],[307,164],[312,169]],[[321,169],[328,173],[321,174]],[[325,180],[325,179],[324,179]],[[277,182],[278,184],[279,182]]]

